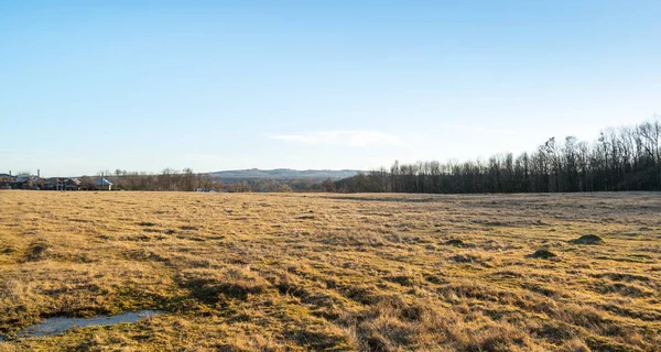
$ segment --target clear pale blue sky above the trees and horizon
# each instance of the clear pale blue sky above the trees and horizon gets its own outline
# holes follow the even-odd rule
[[[361,168],[661,112],[661,1],[0,1],[0,172]]]

